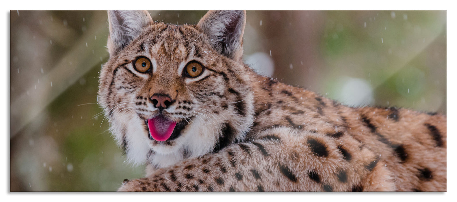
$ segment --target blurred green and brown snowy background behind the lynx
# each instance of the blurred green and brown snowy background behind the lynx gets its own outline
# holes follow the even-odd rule
[[[206,11],[150,11],[194,24]],[[104,117],[106,11],[11,11],[11,191],[115,191],[143,177]],[[247,11],[261,74],[351,106],[446,114],[446,11]]]

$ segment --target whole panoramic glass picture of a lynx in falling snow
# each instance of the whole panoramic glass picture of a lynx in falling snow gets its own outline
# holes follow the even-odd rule
[[[447,191],[446,11],[10,26],[10,191]]]

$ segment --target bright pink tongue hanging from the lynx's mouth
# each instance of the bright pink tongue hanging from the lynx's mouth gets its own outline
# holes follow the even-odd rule
[[[148,120],[149,133],[151,133],[152,138],[159,142],[170,138],[175,126],[176,122],[165,118],[163,115]]]

